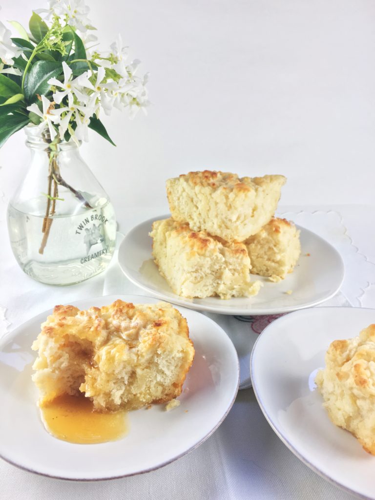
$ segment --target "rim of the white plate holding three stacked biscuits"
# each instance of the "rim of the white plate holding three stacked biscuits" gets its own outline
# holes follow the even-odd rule
[[[298,305],[296,308],[291,306],[291,307],[283,307],[283,308],[279,307],[279,308],[267,309],[267,310],[261,310],[261,309],[249,310],[249,309],[241,309],[241,308],[233,309],[233,310],[228,310],[228,309],[223,310],[222,307],[220,308],[220,307],[205,306],[205,305],[201,305],[201,304],[197,304],[197,303],[188,303],[185,301],[185,300],[187,300],[185,297],[178,298],[178,295],[176,295],[175,293],[173,293],[173,295],[176,298],[174,298],[174,297],[165,298],[165,295],[162,292],[157,292],[157,291],[151,290],[149,287],[147,287],[147,285],[143,284],[141,281],[138,281],[136,278],[134,278],[132,276],[132,274],[127,271],[126,264],[121,261],[120,255],[121,255],[121,249],[125,246],[127,238],[139,226],[146,224],[146,223],[149,223],[151,225],[152,222],[154,222],[155,220],[168,218],[170,216],[171,216],[170,214],[163,214],[163,215],[159,215],[156,217],[151,217],[149,219],[143,220],[142,222],[139,222],[138,224],[134,225],[131,229],[129,229],[124,234],[124,238],[122,239],[122,241],[118,247],[118,254],[117,254],[118,265],[120,266],[121,271],[124,273],[124,275],[127,277],[127,279],[129,281],[131,281],[133,284],[135,284],[136,286],[138,286],[139,288],[141,288],[142,290],[144,290],[148,293],[152,293],[155,297],[160,298],[161,300],[170,301],[173,304],[181,305],[182,307],[186,307],[188,309],[193,309],[193,310],[197,310],[197,311],[213,312],[216,314],[237,315],[237,316],[238,315],[239,316],[262,316],[262,315],[268,315],[268,314],[282,314],[282,313],[286,314],[289,312],[294,312],[296,310],[311,308],[311,307],[314,307],[315,305],[319,305],[319,304],[325,302],[326,300],[329,300],[338,292],[338,290],[341,288],[342,283],[345,279],[345,264],[344,264],[343,258],[341,256],[341,254],[339,253],[339,251],[331,243],[329,243],[329,241],[327,241],[323,237],[319,236],[319,234],[316,234],[315,232],[310,231],[310,229],[306,229],[305,227],[303,227],[299,224],[295,224],[298,229],[302,229],[303,231],[305,231],[309,234],[312,234],[315,238],[317,238],[318,240],[321,240],[324,244],[329,246],[330,249],[333,250],[333,252],[338,257],[342,275],[341,275],[341,279],[340,279],[339,284],[336,286],[334,291],[332,291],[329,295],[327,295],[321,299],[318,299],[318,300],[310,301],[307,304]],[[194,299],[192,299],[192,300],[194,300]],[[230,299],[228,299],[228,300],[230,300]],[[225,306],[225,304],[222,304],[222,305]]]

